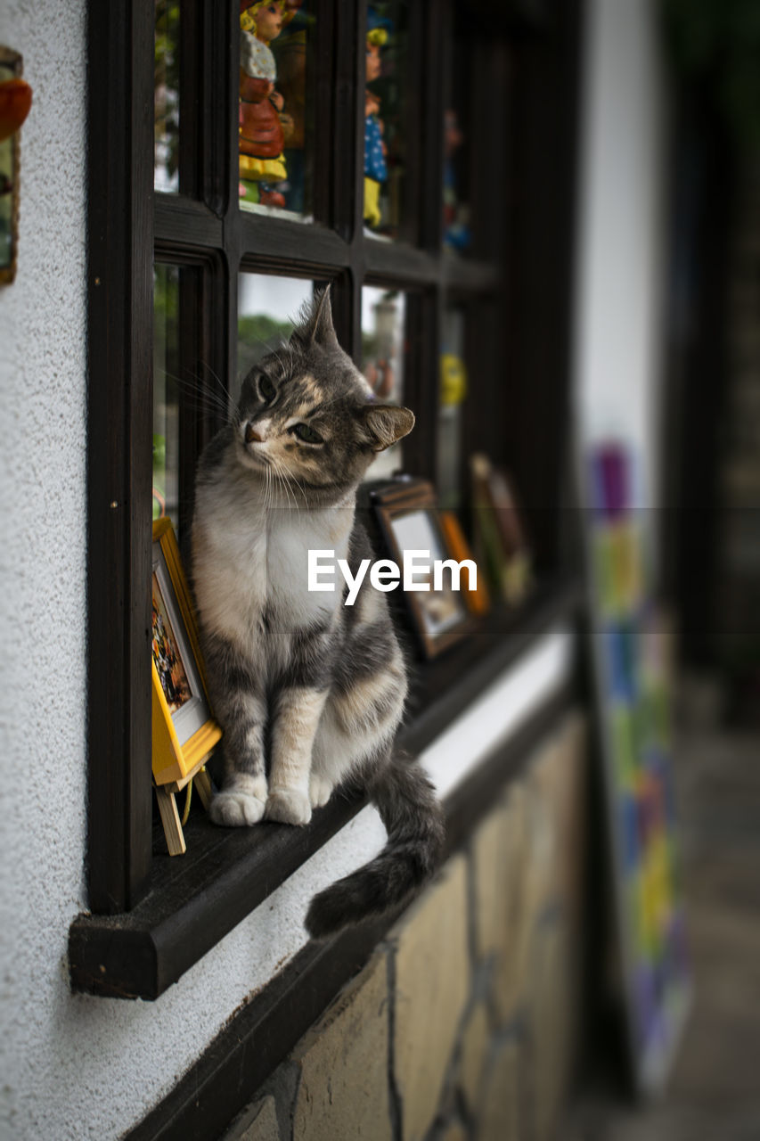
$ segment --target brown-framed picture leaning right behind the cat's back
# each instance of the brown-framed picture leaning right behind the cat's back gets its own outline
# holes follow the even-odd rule
[[[399,480],[371,496],[389,558],[401,572],[399,589],[409,608],[414,631],[426,657],[435,657],[472,629],[472,617],[466,596],[469,572],[463,567],[459,589],[454,589],[450,568],[443,567],[439,576],[436,564],[461,555],[452,551],[440,526],[432,486],[423,480]],[[418,552],[413,566],[406,567],[410,552]],[[429,560],[419,557],[429,552]],[[406,556],[406,558],[405,558]],[[404,589],[404,578],[414,589]]]

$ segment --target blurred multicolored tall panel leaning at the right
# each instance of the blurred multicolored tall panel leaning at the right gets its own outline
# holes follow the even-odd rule
[[[666,626],[647,581],[647,512],[622,443],[595,448],[589,484],[593,648],[621,977],[633,1082],[662,1086],[688,1008],[672,795]]]

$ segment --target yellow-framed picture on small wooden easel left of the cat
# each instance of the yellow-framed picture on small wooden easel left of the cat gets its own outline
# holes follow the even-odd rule
[[[197,628],[171,520],[153,524],[153,776],[183,782],[221,737],[211,715]]]

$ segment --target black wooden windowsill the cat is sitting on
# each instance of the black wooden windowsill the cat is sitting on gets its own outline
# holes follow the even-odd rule
[[[466,641],[417,670],[399,746],[419,753],[545,630],[573,616],[577,582],[545,584],[519,610],[490,616]],[[261,904],[363,807],[335,799],[304,828],[264,823],[217,828],[202,814],[187,852],[156,852],[152,885],[122,915],[79,915],[68,932],[72,986],[90,994],[156,998]]]

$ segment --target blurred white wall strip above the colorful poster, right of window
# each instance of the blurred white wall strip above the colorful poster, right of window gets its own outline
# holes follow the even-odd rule
[[[636,459],[637,505],[660,502],[665,92],[652,0],[588,0],[575,378],[588,443]]]

